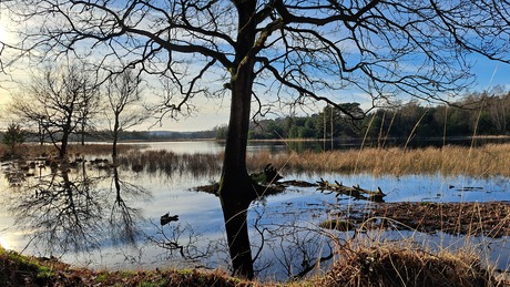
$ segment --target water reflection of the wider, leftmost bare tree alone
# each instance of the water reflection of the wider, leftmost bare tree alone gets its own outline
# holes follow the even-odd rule
[[[47,250],[89,250],[102,239],[98,222],[102,215],[99,178],[83,172],[70,178],[70,171],[60,168],[39,180],[27,182],[10,208],[17,224],[32,233],[31,242]]]

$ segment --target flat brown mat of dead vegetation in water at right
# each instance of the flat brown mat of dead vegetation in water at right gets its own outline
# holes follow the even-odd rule
[[[508,202],[351,204],[333,209],[330,216],[333,219],[323,224],[332,229],[338,229],[340,223],[351,230],[398,228],[490,238],[510,236]]]

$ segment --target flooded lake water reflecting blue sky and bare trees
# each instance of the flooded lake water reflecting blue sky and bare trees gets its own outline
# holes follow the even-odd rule
[[[304,145],[309,143],[304,143]],[[316,144],[316,143],[312,143]],[[143,143],[143,148],[178,154],[223,151],[217,142]],[[289,148],[283,143],[254,143],[249,153]],[[296,147],[297,148],[297,147]],[[303,144],[302,147],[304,148]],[[315,147],[314,147],[315,148]],[[224,221],[220,201],[193,187],[218,180],[220,171],[205,175],[187,172],[133,172],[91,161],[67,172],[51,173],[38,163],[28,167],[30,176],[16,175],[10,163],[2,164],[0,178],[0,243],[17,252],[58,257],[67,263],[105,269],[166,267],[228,268]],[[368,174],[283,174],[285,180],[315,183],[320,177],[380,187],[386,202],[489,202],[510,201],[510,181],[504,177],[408,175],[376,177]],[[333,248],[318,225],[329,219],[338,206],[369,208],[377,203],[355,201],[317,191],[290,187],[262,198],[248,212],[255,269],[261,278],[287,279]],[[365,207],[364,207],[365,206]],[[162,225],[162,216],[170,222]],[[329,234],[333,232],[329,232]],[[350,232],[336,236],[349,238]],[[365,234],[371,236],[370,233]],[[411,238],[432,248],[460,248],[466,240],[499,268],[508,269],[508,238],[453,236],[442,233],[377,232],[387,240]],[[327,263],[325,264],[327,266]]]

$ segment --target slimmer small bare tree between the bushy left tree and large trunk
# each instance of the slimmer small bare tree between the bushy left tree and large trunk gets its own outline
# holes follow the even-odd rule
[[[118,160],[118,142],[120,133],[133,125],[142,123],[149,113],[142,106],[142,80],[133,70],[110,78],[106,82],[108,105],[112,116],[108,119],[113,140],[112,158]]]

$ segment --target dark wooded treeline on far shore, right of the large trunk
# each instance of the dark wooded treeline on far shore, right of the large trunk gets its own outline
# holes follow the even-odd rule
[[[355,117],[358,103],[343,104]],[[442,137],[510,135],[510,92],[472,93],[449,105],[424,106],[410,102],[378,109],[363,120],[353,120],[333,107],[309,116],[264,120],[252,125],[249,139],[340,139],[340,137]],[[226,127],[216,127],[224,139]]]

